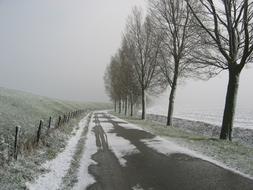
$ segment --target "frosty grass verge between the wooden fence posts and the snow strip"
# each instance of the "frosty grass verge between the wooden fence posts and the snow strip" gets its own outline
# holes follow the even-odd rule
[[[73,128],[78,125],[80,119],[72,119],[68,124],[53,130],[45,137],[44,146],[39,144],[39,147],[30,154],[20,155],[17,161],[1,166],[0,189],[26,189],[27,181],[32,181],[39,174],[48,172],[40,166],[47,160],[54,159],[64,150],[67,140],[75,135]]]

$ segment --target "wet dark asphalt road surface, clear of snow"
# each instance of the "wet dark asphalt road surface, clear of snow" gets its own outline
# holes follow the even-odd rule
[[[106,121],[107,120],[107,121]],[[141,140],[155,136],[137,129],[121,127],[108,114],[95,113],[93,133],[98,151],[92,159],[98,164],[89,166],[96,183],[88,190],[252,190],[253,181],[210,162],[185,154],[164,155],[146,146]],[[126,155],[126,166],[110,150],[110,139],[102,123],[109,122],[115,133],[131,142],[139,153]],[[137,185],[138,184],[138,185]],[[136,188],[133,188],[136,187]]]

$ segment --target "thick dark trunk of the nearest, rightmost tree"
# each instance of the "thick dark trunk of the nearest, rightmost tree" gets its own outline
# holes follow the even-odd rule
[[[237,92],[239,87],[240,72],[229,71],[226,103],[223,113],[220,139],[232,140],[232,128],[234,123]]]

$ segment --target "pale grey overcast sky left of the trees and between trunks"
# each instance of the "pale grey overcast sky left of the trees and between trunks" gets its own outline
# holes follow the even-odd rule
[[[107,101],[103,74],[125,21],[144,0],[0,0],[0,86],[44,96]],[[251,105],[253,69],[243,71],[239,104]],[[190,81],[177,105],[222,104],[227,75]],[[167,99],[167,96],[164,96]]]

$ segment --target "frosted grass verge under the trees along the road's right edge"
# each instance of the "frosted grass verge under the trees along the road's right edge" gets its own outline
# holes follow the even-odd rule
[[[143,121],[137,117],[128,117],[112,113],[113,115],[136,124],[143,129],[161,136],[177,144],[199,152],[205,156],[225,164],[253,177],[253,147],[238,142],[229,142],[218,138],[208,138],[183,131],[180,128],[167,127],[158,122]]]

